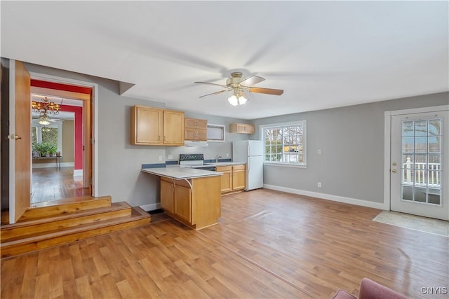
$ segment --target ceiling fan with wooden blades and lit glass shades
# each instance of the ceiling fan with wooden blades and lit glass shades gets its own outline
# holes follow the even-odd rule
[[[208,84],[208,85],[216,85],[221,88],[225,88],[225,90],[220,90],[217,92],[210,93],[208,95],[202,95],[201,97],[208,97],[209,95],[218,95],[222,92],[233,91],[234,94],[229,97],[228,101],[233,106],[245,104],[247,99],[243,96],[244,92],[255,92],[255,93],[264,93],[267,95],[282,95],[283,90],[277,90],[272,88],[256,88],[252,85],[260,83],[265,79],[259,76],[250,76],[248,78],[242,78],[242,74],[239,71],[234,71],[231,73],[231,78],[228,78],[226,81],[226,85],[209,83],[209,82],[201,82],[196,81],[194,83]]]

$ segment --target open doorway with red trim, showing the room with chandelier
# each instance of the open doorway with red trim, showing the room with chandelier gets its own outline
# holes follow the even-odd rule
[[[42,111],[32,112],[30,206],[92,195],[91,147],[86,144],[91,139],[92,88],[32,78],[31,92],[32,102],[53,103],[58,111],[45,115],[46,122]]]

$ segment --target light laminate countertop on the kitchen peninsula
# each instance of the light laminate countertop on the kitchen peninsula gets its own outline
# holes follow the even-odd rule
[[[179,167],[179,165],[158,168],[142,168],[141,171],[147,172],[148,174],[155,174],[156,176],[164,176],[169,179],[195,179],[205,176],[221,176],[223,174],[222,172],[213,172],[210,170]]]

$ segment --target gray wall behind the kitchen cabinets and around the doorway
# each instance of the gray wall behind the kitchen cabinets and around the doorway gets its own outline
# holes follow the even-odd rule
[[[77,74],[70,71],[43,67],[36,64],[25,64],[33,73],[59,76],[79,81],[97,83],[98,90],[98,195],[111,195],[113,202],[126,200],[133,206],[155,204],[159,202],[159,178],[140,172],[142,164],[165,162],[168,153],[177,160],[179,153],[192,151],[205,153],[213,159],[215,155],[232,155],[231,142],[234,139],[244,139],[243,134],[226,135],[227,142],[210,143],[208,148],[186,148],[170,146],[133,146],[130,145],[130,107],[134,105],[166,108],[161,102],[152,102],[119,95],[117,81]],[[169,109],[169,108],[168,108]],[[229,124],[242,120],[203,116],[197,113],[185,115],[192,118],[207,118],[209,123]],[[204,151],[203,151],[204,150]]]

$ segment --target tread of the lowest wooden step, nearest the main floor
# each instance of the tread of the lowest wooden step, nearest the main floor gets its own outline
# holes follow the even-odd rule
[[[81,225],[77,225],[75,227],[71,227],[68,229],[47,232],[43,235],[40,234],[40,235],[25,237],[22,239],[6,240],[4,242],[3,241],[1,242],[0,247],[4,248],[6,246],[13,246],[16,244],[26,244],[26,243],[38,242],[38,241],[41,241],[44,239],[51,239],[54,237],[60,237],[60,236],[64,236],[64,235],[72,235],[72,234],[76,234],[78,232],[95,230],[96,228],[102,228],[102,227],[107,227],[109,225],[116,225],[116,224],[120,224],[120,223],[131,222],[131,221],[138,221],[138,220],[145,219],[145,218],[149,218],[149,220],[151,220],[151,216],[149,214],[147,214],[147,212],[143,211],[139,207],[133,207],[131,209],[131,214],[128,216],[121,216],[121,217],[102,220],[102,221],[98,221],[98,222],[94,222],[94,223],[81,224]]]

